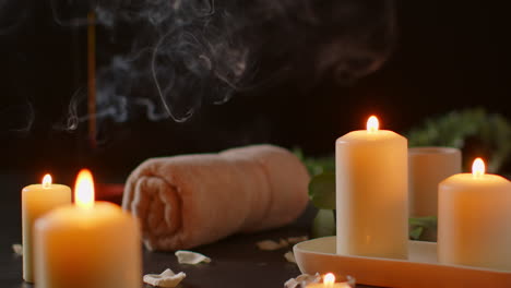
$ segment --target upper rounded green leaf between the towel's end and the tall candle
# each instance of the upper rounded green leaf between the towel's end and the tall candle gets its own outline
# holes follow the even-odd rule
[[[335,173],[323,172],[312,177],[309,197],[318,208],[335,209]]]

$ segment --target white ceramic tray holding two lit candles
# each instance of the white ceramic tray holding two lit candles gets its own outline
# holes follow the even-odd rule
[[[304,241],[293,250],[301,273],[352,275],[357,284],[396,288],[511,287],[511,272],[438,263],[436,242],[409,241],[406,261],[337,255],[335,236]]]

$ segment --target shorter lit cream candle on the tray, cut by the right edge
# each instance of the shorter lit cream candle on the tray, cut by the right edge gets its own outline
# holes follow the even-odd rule
[[[511,182],[485,173],[449,177],[438,190],[438,260],[445,264],[511,271]]]

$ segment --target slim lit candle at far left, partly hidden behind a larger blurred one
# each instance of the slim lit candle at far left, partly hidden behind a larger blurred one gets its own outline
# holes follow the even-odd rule
[[[71,203],[71,189],[51,183],[51,176],[45,175],[41,184],[32,184],[22,190],[23,230],[23,279],[34,281],[33,226],[34,221],[50,209]]]

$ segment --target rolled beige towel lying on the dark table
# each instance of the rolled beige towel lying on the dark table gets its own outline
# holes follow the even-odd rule
[[[301,161],[272,145],[152,158],[128,178],[122,207],[140,218],[147,249],[174,251],[289,224],[308,183]]]

